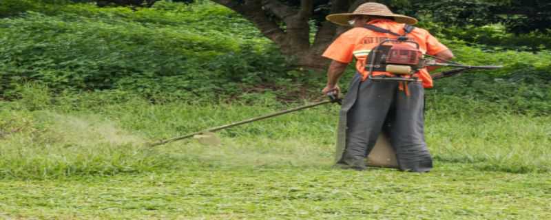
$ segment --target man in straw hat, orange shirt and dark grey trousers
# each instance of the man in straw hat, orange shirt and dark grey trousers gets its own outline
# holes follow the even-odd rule
[[[375,145],[380,132],[384,131],[396,151],[397,164],[401,170],[427,172],[433,161],[424,140],[424,88],[433,87],[429,69],[420,69],[413,77],[416,82],[404,83],[390,80],[371,80],[366,71],[366,58],[371,49],[385,39],[397,36],[365,28],[375,25],[406,35],[419,43],[419,50],[449,60],[452,52],[422,28],[409,29],[417,19],[394,14],[386,5],[364,3],[353,12],[330,14],[327,20],[337,25],[353,25],[354,28],[341,34],[324,52],[333,60],[327,74],[324,94],[340,91],[337,82],[346,66],[356,59],[357,74],[340,111],[337,137],[337,165],[342,168],[364,170],[365,157]],[[389,72],[373,72],[373,76],[394,77]]]

